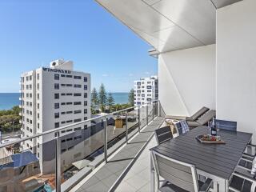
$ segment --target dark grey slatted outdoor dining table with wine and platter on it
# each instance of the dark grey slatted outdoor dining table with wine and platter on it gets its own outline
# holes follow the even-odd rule
[[[214,191],[228,191],[229,181],[235,167],[242,158],[246,145],[250,143],[252,134],[218,130],[218,136],[225,144],[203,144],[196,137],[209,134],[207,126],[198,126],[186,134],[179,135],[167,142],[155,146],[151,150],[174,158],[181,162],[193,164],[198,175],[211,178],[214,181]],[[151,191],[155,191],[155,172],[151,158]],[[171,181],[170,181],[171,182]]]

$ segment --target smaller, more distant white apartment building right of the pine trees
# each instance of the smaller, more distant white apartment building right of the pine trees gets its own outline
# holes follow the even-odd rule
[[[158,99],[158,77],[141,78],[134,81],[134,106]]]

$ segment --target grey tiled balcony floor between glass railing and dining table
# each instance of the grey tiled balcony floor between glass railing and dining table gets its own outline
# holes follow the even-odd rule
[[[109,159],[108,163],[102,166],[89,179],[85,180],[85,182],[80,182],[75,191],[104,192],[115,189],[113,186],[117,186],[115,184],[118,178],[123,178],[124,176],[125,178],[122,179],[122,182],[116,189],[117,191],[148,191],[147,188],[150,186],[150,153],[148,149],[155,145],[154,138],[142,151],[142,154],[140,154],[135,163],[134,159],[149,141],[154,130],[161,126],[162,121],[163,118],[158,117],[153,122],[150,122],[149,126],[146,126],[140,134],[130,140],[129,144],[118,151],[113,158]],[[128,174],[126,174],[126,168],[130,163],[134,164]],[[146,172],[148,173],[145,174]]]

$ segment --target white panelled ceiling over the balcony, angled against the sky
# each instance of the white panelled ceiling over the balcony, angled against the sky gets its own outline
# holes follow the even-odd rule
[[[159,52],[215,43],[216,9],[239,0],[96,0]]]

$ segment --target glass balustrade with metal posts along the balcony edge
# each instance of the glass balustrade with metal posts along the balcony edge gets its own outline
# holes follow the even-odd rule
[[[52,129],[43,134],[27,135],[18,141],[4,143],[0,145],[0,149],[12,151],[12,154],[0,154],[0,162],[6,167],[0,170],[0,173],[8,170],[8,173],[14,174],[5,177],[0,174],[0,181],[6,183],[10,191],[44,187],[56,191],[69,191],[78,187],[79,182],[89,178],[102,166],[108,166],[106,169],[112,170],[109,173],[111,178],[117,174],[113,173],[114,167],[121,175],[144,149],[154,134],[154,129],[161,124],[163,118],[160,114],[163,112],[159,107],[158,102],[151,102],[146,106],[130,107],[114,114],[106,114]],[[118,151],[122,153],[117,154]],[[122,158],[125,157],[122,162]],[[114,159],[116,163],[106,163]],[[9,165],[11,162],[15,164],[15,161],[23,161],[24,164],[17,167]],[[30,166],[34,169],[26,168]],[[54,169],[55,166],[58,167],[57,171]],[[16,169],[22,167],[24,173],[15,174],[18,173]],[[98,174],[95,174],[95,177]],[[110,183],[113,184],[114,180],[111,179]]]

